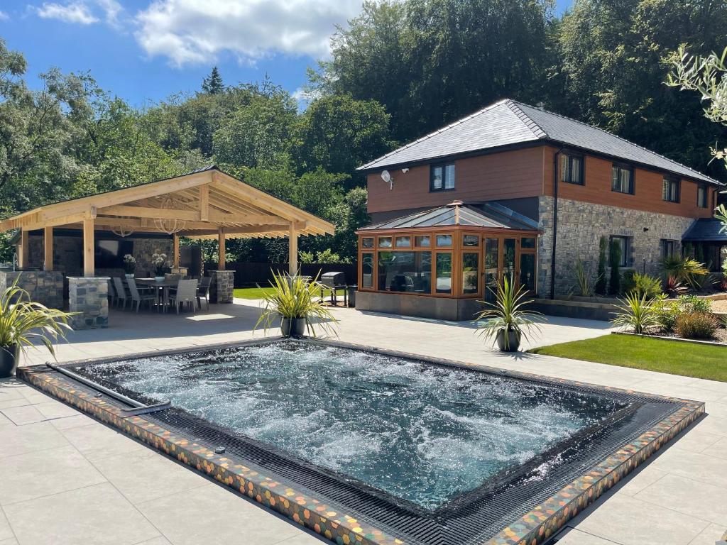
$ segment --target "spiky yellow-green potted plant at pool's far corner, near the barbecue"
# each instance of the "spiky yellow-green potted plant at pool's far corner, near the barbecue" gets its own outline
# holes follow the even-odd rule
[[[337,323],[337,320],[320,296],[323,287],[318,283],[318,277],[309,280],[298,274],[289,276],[273,272],[271,289],[262,296],[264,310],[255,328],[262,324],[267,334],[268,329],[279,319],[281,332],[286,337],[302,336],[306,330],[316,336],[316,325],[328,333],[336,334],[332,324]]]

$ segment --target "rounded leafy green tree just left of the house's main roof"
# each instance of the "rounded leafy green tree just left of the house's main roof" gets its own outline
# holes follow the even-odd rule
[[[298,168],[353,174],[391,148],[389,119],[375,100],[342,94],[313,101],[300,116]]]

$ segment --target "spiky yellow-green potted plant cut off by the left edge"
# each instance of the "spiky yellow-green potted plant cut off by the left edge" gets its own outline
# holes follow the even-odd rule
[[[20,350],[40,341],[55,358],[53,343],[65,339],[71,313],[49,309],[30,300],[15,284],[0,294],[0,379],[12,376]]]

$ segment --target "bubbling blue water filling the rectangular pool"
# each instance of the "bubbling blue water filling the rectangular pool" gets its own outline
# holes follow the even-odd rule
[[[106,379],[436,509],[619,404],[599,395],[289,341],[88,366]]]

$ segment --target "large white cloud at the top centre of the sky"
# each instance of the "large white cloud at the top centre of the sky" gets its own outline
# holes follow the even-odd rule
[[[137,14],[135,36],[175,65],[220,52],[248,62],[276,52],[320,57],[336,25],[360,10],[361,0],[155,0]]]

